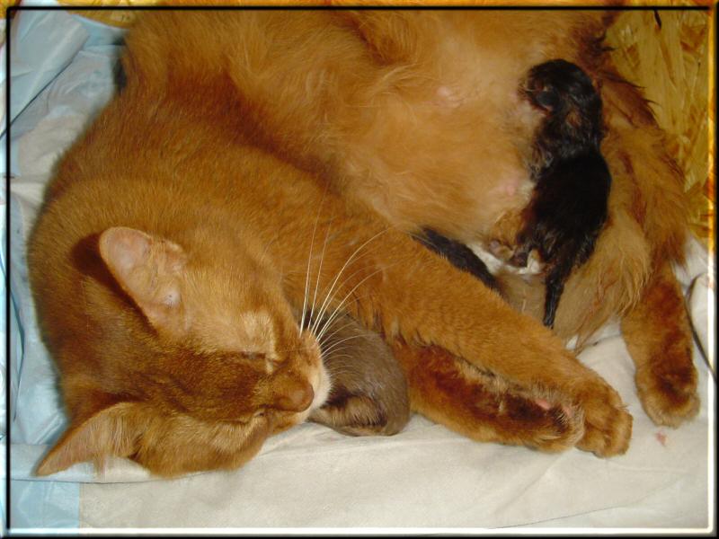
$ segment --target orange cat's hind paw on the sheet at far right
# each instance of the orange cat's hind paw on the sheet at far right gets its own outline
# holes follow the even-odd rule
[[[690,360],[650,363],[637,369],[635,380],[644,411],[657,425],[679,427],[697,415],[697,369]]]

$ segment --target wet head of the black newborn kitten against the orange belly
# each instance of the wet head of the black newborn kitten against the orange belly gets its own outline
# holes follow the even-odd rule
[[[541,137],[556,144],[599,146],[601,99],[579,66],[561,59],[538,64],[529,70],[521,92],[547,114]]]

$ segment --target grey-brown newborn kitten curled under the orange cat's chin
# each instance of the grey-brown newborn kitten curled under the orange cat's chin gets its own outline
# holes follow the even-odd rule
[[[342,314],[328,322],[320,349],[332,389],[309,419],[351,436],[390,436],[410,419],[407,381],[376,331]]]

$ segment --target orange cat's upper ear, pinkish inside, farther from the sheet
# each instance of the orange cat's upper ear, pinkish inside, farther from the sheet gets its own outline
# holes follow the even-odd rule
[[[100,234],[100,255],[157,330],[182,333],[187,318],[182,301],[182,270],[187,256],[177,243],[116,226]]]

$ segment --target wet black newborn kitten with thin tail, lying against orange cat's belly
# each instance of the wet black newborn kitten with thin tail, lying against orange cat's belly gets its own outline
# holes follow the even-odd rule
[[[509,262],[524,267],[537,249],[546,264],[544,324],[553,327],[564,282],[589,259],[607,221],[601,99],[580,67],[559,59],[532,67],[521,92],[546,118],[534,140],[536,185]]]

